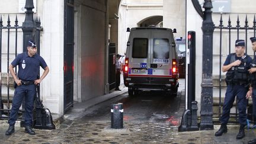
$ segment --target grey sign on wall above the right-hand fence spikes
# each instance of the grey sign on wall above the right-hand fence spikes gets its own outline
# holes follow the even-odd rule
[[[212,1],[212,11],[217,13],[231,12],[231,0],[215,0]]]

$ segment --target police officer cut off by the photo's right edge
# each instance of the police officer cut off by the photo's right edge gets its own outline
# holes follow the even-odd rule
[[[256,52],[256,37],[251,37],[252,50]],[[251,69],[248,70],[249,82],[251,84],[249,91],[247,92],[247,98],[252,97],[252,116],[254,117],[254,122],[256,118],[256,57],[252,60]],[[249,144],[255,143],[256,139],[250,140]]]

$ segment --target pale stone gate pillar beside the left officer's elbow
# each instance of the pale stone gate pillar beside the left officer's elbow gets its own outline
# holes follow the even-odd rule
[[[41,84],[43,104],[52,113],[63,114],[64,2],[40,0],[38,4],[38,15],[43,27],[40,55],[44,57],[50,69]]]

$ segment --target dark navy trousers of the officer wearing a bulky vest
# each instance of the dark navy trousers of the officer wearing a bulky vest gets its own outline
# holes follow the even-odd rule
[[[235,101],[235,97],[237,99],[237,108],[239,112],[239,123],[247,124],[247,94],[248,88],[245,88],[243,85],[228,85],[226,90],[225,100],[223,104],[223,112],[220,117],[220,123],[226,124],[229,120],[230,110],[233,106],[233,102]]]

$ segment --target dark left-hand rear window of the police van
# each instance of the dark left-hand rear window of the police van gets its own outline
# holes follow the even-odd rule
[[[148,57],[148,39],[135,38],[133,39],[133,58],[147,58]]]

